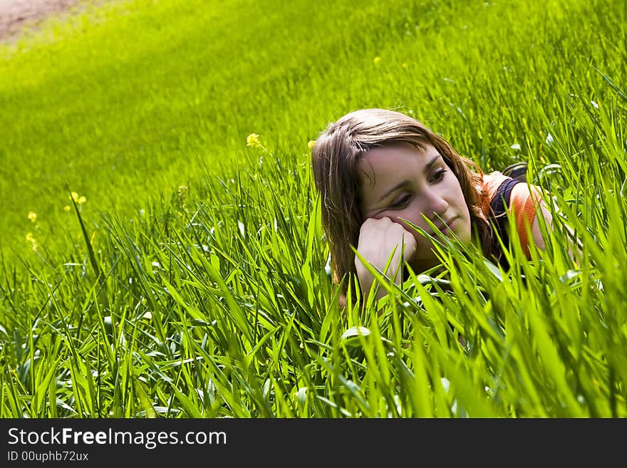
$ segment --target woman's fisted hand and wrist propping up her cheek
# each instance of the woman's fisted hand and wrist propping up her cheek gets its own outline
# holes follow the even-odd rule
[[[395,247],[396,250],[390,261],[390,266],[385,271],[385,265],[388,264],[390,254]],[[357,251],[375,268],[383,271],[388,278],[395,275],[393,279],[395,284],[400,284],[401,281],[401,272],[403,271],[401,261],[410,259],[415,250],[416,239],[414,236],[401,224],[393,222],[388,217],[368,218],[361,225]],[[355,268],[361,291],[363,294],[367,294],[374,278],[358,256],[355,256]],[[379,289],[378,298],[384,296],[385,293],[385,289]]]

